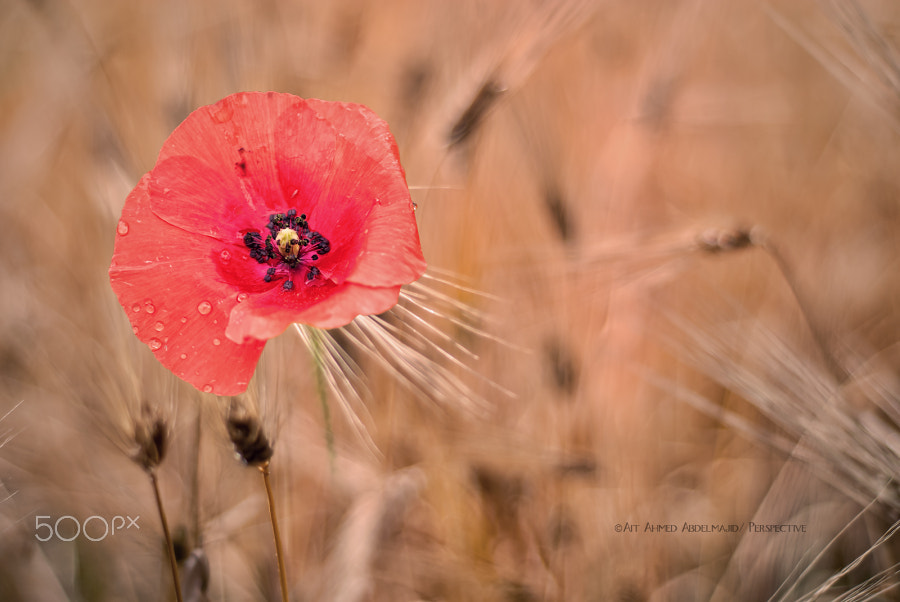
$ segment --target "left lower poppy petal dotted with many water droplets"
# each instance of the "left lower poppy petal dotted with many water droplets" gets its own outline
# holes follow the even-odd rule
[[[235,395],[247,387],[264,341],[225,336],[234,290],[216,278],[209,239],[174,228],[150,210],[150,174],[128,195],[110,283],[135,334],[197,389]]]

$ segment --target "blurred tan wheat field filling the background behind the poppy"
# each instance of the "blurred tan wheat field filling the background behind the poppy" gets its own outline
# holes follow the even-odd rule
[[[0,599],[174,599],[129,459],[148,403],[176,551],[208,560],[189,599],[279,597],[229,400],[155,361],[107,276],[165,138],[239,90],[390,124],[437,315],[386,319],[458,360],[422,347],[409,386],[335,333],[365,428],[332,392],[331,451],[301,338],[266,347],[243,403],[292,600],[900,599],[894,3],[3,8]]]

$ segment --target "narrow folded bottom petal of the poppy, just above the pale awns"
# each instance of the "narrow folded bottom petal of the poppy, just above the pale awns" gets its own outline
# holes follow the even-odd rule
[[[263,305],[259,298],[254,298],[231,310],[225,332],[232,341],[246,341],[276,337],[294,322],[317,328],[338,328],[357,316],[387,311],[396,305],[399,295],[399,286],[370,288],[347,283],[327,299],[302,311],[279,304]]]

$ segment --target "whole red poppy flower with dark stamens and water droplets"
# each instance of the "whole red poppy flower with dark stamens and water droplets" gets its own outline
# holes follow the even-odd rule
[[[381,313],[424,271],[387,124],[358,104],[245,92],[166,140],[125,201],[109,277],[164,366],[234,395],[289,324]]]

